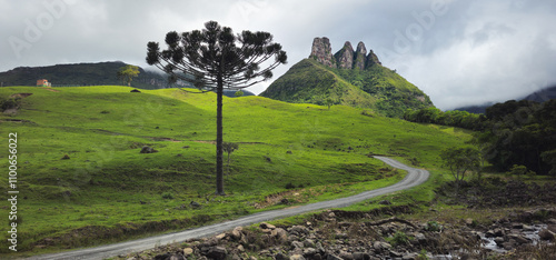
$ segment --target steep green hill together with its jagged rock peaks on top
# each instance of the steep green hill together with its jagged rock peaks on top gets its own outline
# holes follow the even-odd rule
[[[433,106],[421,90],[384,67],[373,50],[367,54],[363,42],[354,51],[347,41],[332,54],[328,38],[316,38],[309,58],[292,66],[260,96],[287,102],[369,108],[387,117]]]

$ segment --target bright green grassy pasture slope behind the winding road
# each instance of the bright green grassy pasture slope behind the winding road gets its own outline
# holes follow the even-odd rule
[[[0,88],[0,98],[32,93],[17,114],[0,114],[0,146],[8,147],[10,132],[18,134],[20,252],[120,241],[346,197],[404,177],[369,154],[434,173],[444,147],[469,139],[453,128],[351,107],[225,98],[225,141],[238,142],[239,150],[225,177],[228,196],[214,197],[216,94],[130,90]],[[143,146],[158,152],[139,153]],[[2,169],[7,157],[8,149],[0,149]],[[0,192],[7,187],[4,174]],[[0,214],[8,212],[1,204]]]

